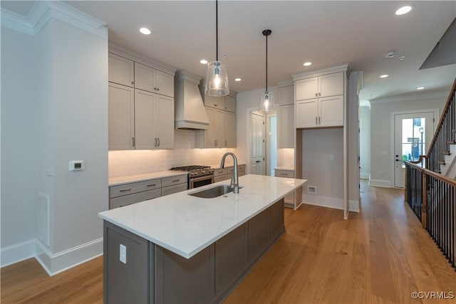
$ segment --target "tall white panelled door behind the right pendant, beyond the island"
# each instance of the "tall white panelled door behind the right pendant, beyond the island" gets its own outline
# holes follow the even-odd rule
[[[252,174],[266,175],[266,166],[264,165],[266,150],[266,117],[252,112],[252,147],[250,163],[252,164]]]

